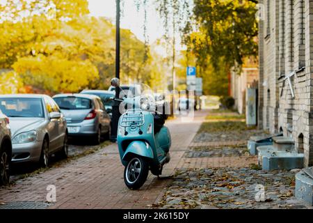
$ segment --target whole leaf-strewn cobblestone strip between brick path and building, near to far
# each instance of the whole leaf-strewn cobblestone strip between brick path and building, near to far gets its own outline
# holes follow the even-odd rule
[[[294,197],[299,170],[259,170],[243,146],[251,135],[268,136],[236,120],[207,120],[154,208],[309,208]]]

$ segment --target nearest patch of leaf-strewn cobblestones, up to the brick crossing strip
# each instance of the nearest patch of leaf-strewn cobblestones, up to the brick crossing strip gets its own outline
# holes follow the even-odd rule
[[[307,208],[294,198],[294,174],[247,167],[179,169],[164,199],[155,207]]]

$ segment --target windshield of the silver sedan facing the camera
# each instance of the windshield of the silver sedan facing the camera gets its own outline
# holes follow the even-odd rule
[[[40,98],[0,98],[0,109],[10,118],[44,118]]]

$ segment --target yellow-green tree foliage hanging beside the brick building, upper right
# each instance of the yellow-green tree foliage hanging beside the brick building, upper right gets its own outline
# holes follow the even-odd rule
[[[193,13],[199,32],[190,38],[192,49],[202,64],[209,56],[214,68],[220,68],[221,59],[227,68],[231,68],[242,66],[247,56],[257,56],[254,2],[195,0],[194,3]]]

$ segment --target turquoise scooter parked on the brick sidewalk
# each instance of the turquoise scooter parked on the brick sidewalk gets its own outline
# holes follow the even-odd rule
[[[111,85],[120,88],[120,80],[113,78]],[[143,186],[149,170],[159,177],[163,165],[170,162],[171,139],[170,131],[164,126],[166,115],[155,111],[150,98],[142,94],[112,98],[132,106],[118,121],[118,150],[125,166],[124,181],[131,190]]]

